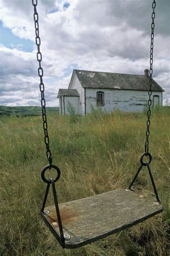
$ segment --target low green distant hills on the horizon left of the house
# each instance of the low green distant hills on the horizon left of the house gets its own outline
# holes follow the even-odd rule
[[[47,113],[59,113],[59,107],[46,107]],[[39,116],[41,115],[41,107],[38,106],[25,106],[25,107],[8,107],[0,106],[1,115],[25,115],[25,116]]]

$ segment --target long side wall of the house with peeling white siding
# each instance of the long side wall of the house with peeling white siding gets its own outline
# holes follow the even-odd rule
[[[97,91],[104,92],[104,106],[97,106],[96,93]],[[151,100],[154,95],[159,95],[159,104],[162,105],[162,92],[153,91]],[[118,90],[118,89],[101,89],[101,88],[86,88],[86,113],[90,113],[90,105],[94,108],[101,108],[107,112],[113,111],[114,108],[118,108],[122,111],[142,111],[147,104],[148,91],[140,90]]]

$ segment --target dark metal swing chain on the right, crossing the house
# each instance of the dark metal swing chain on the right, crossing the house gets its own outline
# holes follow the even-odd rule
[[[149,90],[148,90],[148,95],[149,95],[149,99],[148,99],[148,111],[147,111],[147,130],[146,130],[146,142],[145,142],[145,153],[146,156],[148,155],[148,151],[149,151],[149,127],[150,127],[150,115],[151,115],[151,95],[152,95],[152,73],[153,73],[153,69],[152,69],[152,64],[153,64],[153,51],[154,51],[154,28],[155,28],[155,23],[154,23],[154,19],[155,19],[155,7],[156,7],[156,2],[155,0],[152,3],[152,23],[151,23],[151,46],[150,46],[150,70],[149,70],[149,74],[150,74],[150,78],[149,78]]]

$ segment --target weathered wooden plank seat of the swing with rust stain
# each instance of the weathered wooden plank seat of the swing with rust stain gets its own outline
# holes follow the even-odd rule
[[[154,199],[140,196],[132,190],[120,189],[61,203],[63,233],[70,235],[70,239],[65,240],[65,248],[84,246],[163,211],[162,205],[154,205]],[[41,213],[42,219],[58,239],[59,227],[52,225],[57,222],[55,206],[46,207],[44,211],[49,213]]]

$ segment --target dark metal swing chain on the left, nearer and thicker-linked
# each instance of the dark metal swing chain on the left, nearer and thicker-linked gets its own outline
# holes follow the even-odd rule
[[[47,116],[46,116],[46,100],[44,98],[44,84],[43,84],[43,68],[41,67],[42,54],[40,51],[41,40],[39,37],[39,24],[38,24],[38,13],[37,13],[37,0],[32,0],[32,4],[34,6],[34,24],[36,30],[36,45],[37,45],[37,61],[39,62],[38,68],[38,76],[40,78],[39,89],[41,92],[41,107],[42,107],[42,120],[43,120],[43,129],[44,129],[44,142],[46,144],[46,156],[50,162],[50,166],[52,165],[52,154],[49,150],[49,137],[48,137],[48,125],[47,125]]]

